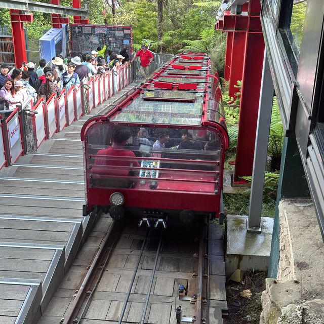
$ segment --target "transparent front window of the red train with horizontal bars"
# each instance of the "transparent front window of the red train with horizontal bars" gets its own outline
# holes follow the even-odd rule
[[[223,145],[208,129],[98,122],[86,136],[88,188],[219,192]]]

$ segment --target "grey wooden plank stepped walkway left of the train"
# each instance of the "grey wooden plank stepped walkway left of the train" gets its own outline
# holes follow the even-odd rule
[[[80,131],[91,115],[134,85],[44,141],[37,153],[20,156],[13,166],[0,171],[0,324],[18,320],[35,324],[62,280],[68,284],[67,291],[56,293],[58,298],[65,296],[61,302],[73,295],[69,287],[82,279],[84,266],[91,262],[111,220],[96,224],[97,230],[84,245],[87,253],[74,261],[64,277],[94,222],[82,212]]]

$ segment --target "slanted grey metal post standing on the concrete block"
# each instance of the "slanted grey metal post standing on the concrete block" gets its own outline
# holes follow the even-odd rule
[[[266,51],[264,51],[258,124],[254,149],[248,231],[261,232],[260,220],[262,209],[262,196],[264,186],[264,174],[268,154],[273,91],[274,88],[270,73],[269,62],[267,59],[267,53]]]

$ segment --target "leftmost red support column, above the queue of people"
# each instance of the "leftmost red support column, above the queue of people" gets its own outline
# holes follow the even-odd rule
[[[24,22],[32,22],[32,14],[20,14],[19,10],[10,9],[12,38],[14,43],[15,65],[20,68],[23,62],[27,63]]]

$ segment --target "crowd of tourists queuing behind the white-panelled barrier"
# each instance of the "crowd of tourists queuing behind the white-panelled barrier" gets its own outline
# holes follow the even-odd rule
[[[80,82],[88,77],[102,76],[106,71],[116,70],[125,62],[129,61],[126,46],[121,54],[107,51],[106,45],[97,51],[93,50],[88,54],[63,58],[61,55],[52,59],[52,67],[47,66],[48,62],[41,59],[37,69],[35,64],[28,62],[21,68],[14,68],[9,74],[9,65],[2,63],[0,73],[0,110],[15,109],[17,104],[26,100],[33,100],[35,103],[39,96],[46,96],[48,100],[53,93],[59,96],[62,89],[67,91],[72,86],[78,86]]]

